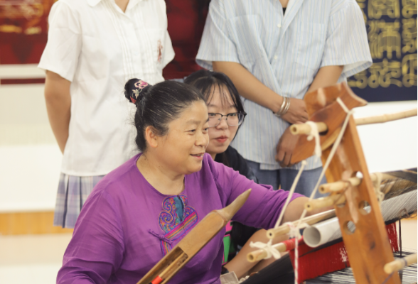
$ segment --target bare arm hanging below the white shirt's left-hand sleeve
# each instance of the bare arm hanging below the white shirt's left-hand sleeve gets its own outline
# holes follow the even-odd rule
[[[47,72],[45,80],[45,103],[48,111],[50,126],[64,153],[68,140],[68,131],[71,117],[71,82],[63,79],[53,72]]]

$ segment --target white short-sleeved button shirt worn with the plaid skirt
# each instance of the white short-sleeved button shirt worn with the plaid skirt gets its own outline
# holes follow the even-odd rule
[[[106,175],[137,153],[134,104],[124,84],[164,81],[174,51],[164,0],[60,0],[49,16],[39,67],[72,82],[70,136],[62,172]]]

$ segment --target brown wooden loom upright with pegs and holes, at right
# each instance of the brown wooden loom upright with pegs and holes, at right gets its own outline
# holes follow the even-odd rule
[[[318,130],[321,131],[324,164],[347,116],[342,104],[337,102],[338,98],[350,110],[367,104],[365,100],[357,97],[345,83],[319,89],[305,97],[311,121],[316,122]],[[414,110],[407,116],[416,115],[416,113],[417,111]],[[394,119],[400,118],[402,116]],[[335,205],[356,283],[400,284],[401,280],[397,273],[389,278],[385,273],[385,266],[395,261],[395,258],[356,127],[357,124],[367,124],[368,121],[361,122],[355,121],[353,116],[350,116],[343,140],[326,172],[328,182],[333,185],[336,185],[336,182],[343,182],[345,187],[340,191],[331,192],[329,197],[313,200],[310,206],[319,208],[327,207],[329,204]],[[376,123],[376,121],[369,122]],[[309,124],[295,125],[292,126],[292,132],[308,134],[311,132],[311,126]],[[296,164],[309,158],[314,153],[314,149],[314,140],[309,141],[306,135],[299,136],[291,163]],[[359,174],[363,177],[360,183],[348,182],[358,177]],[[370,205],[370,212],[364,209],[366,204]],[[355,226],[354,231],[352,224]]]

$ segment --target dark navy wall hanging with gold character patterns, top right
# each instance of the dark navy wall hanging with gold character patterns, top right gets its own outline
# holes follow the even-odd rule
[[[369,102],[417,100],[417,0],[357,0],[373,66],[348,80]]]

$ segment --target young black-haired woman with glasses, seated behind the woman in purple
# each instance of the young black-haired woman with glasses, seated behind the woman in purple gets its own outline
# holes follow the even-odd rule
[[[200,70],[188,76],[185,83],[198,88],[203,93],[208,106],[209,144],[206,153],[209,153],[216,162],[223,163],[246,178],[258,182],[246,160],[230,146],[247,116],[240,94],[230,78],[220,72]],[[227,231],[224,239],[225,250],[232,242],[230,251],[225,253],[225,262],[228,261],[228,257],[232,259],[223,266],[223,273],[233,271],[238,278],[241,278],[272,263],[273,258],[260,263],[247,261],[247,253],[254,251],[250,248],[250,243],[257,241],[268,241],[264,229],[259,230],[233,222],[232,230]],[[241,250],[237,253],[239,249]]]

